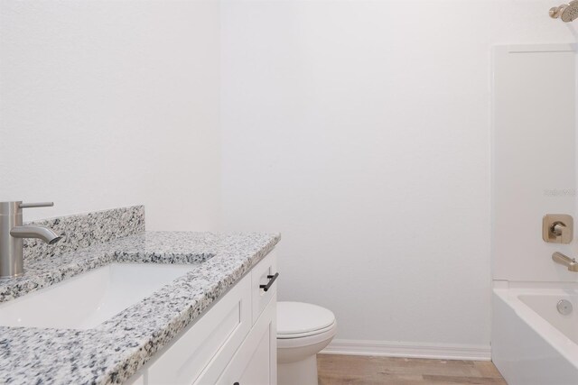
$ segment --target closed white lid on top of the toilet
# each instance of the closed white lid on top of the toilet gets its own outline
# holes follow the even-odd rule
[[[277,302],[277,335],[313,332],[333,325],[331,310],[303,302]]]

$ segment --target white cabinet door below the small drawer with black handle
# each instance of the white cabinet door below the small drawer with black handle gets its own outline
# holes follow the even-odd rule
[[[219,385],[277,383],[276,293],[218,380]]]

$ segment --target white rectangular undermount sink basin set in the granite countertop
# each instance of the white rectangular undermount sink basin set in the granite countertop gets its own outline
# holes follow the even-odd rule
[[[196,266],[111,263],[0,304],[0,325],[91,329]]]

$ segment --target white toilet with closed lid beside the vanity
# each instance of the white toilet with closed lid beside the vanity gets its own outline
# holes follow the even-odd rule
[[[317,385],[317,357],[337,333],[330,310],[303,302],[277,302],[278,385]]]

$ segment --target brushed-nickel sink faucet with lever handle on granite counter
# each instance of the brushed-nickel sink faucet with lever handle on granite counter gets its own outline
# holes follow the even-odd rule
[[[61,240],[48,227],[24,226],[22,222],[23,208],[51,206],[54,203],[0,202],[0,279],[23,275],[23,238],[39,238],[48,244]]]

